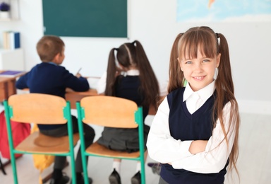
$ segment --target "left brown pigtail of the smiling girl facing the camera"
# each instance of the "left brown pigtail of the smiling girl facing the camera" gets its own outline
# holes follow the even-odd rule
[[[169,86],[167,87],[168,93],[174,91],[176,88],[183,87],[183,71],[178,62],[179,57],[179,40],[183,33],[179,33],[171,48],[170,60],[169,60]]]

